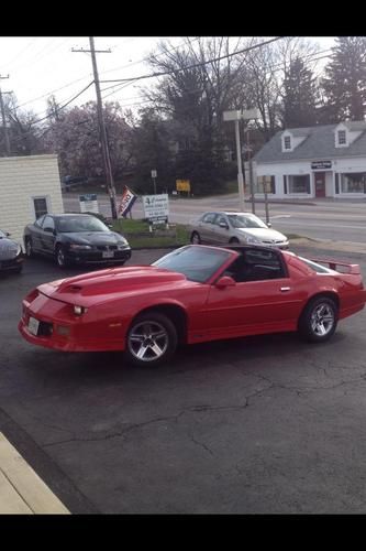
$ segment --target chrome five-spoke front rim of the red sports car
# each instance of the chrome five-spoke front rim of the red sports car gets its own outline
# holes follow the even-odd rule
[[[129,334],[127,347],[140,361],[156,361],[166,353],[169,335],[156,321],[143,321],[134,325]]]

